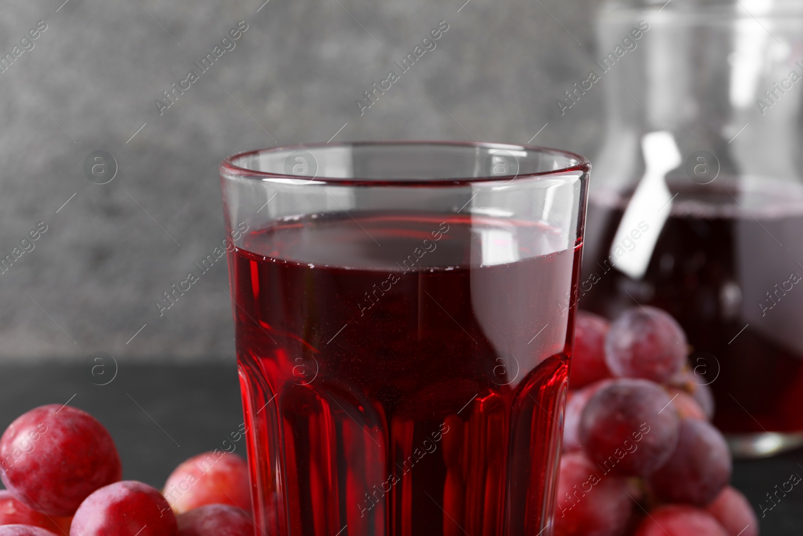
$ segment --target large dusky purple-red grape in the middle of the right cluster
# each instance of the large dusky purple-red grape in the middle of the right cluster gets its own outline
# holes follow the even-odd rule
[[[646,379],[620,378],[595,393],[580,419],[580,443],[605,472],[644,477],[678,442],[671,398]]]

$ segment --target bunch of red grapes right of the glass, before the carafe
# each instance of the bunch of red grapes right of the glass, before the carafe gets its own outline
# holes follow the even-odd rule
[[[757,536],[714,399],[654,307],[577,314],[555,536]]]

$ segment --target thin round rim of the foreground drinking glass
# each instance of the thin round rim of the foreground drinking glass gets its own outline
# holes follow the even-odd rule
[[[234,164],[240,158],[247,158],[257,154],[269,153],[281,150],[302,150],[302,149],[321,149],[325,147],[355,147],[355,146],[388,146],[388,145],[430,145],[432,147],[467,147],[474,149],[499,149],[499,150],[524,150],[532,153],[549,153],[559,155],[567,158],[570,162],[574,161],[572,166],[561,167],[557,170],[538,171],[534,173],[522,173],[513,175],[483,175],[479,177],[459,177],[459,178],[430,178],[430,179],[412,179],[412,178],[360,178],[360,177],[324,177],[316,176],[312,178],[304,178],[307,184],[329,184],[336,186],[409,186],[409,187],[422,187],[422,186],[466,186],[474,182],[516,182],[526,178],[538,177],[551,177],[554,175],[566,174],[573,171],[579,171],[582,174],[587,174],[591,170],[591,162],[580,154],[572,153],[563,149],[552,149],[551,147],[543,147],[540,145],[523,145],[523,144],[507,144],[507,143],[494,143],[488,141],[441,141],[441,140],[390,140],[390,141],[337,141],[334,143],[301,143],[295,145],[276,145],[273,147],[266,147],[263,149],[253,149],[250,151],[243,151],[235,153],[220,162],[219,171],[222,176],[234,175],[238,178],[249,178],[254,180],[264,179],[299,179],[296,175],[271,173],[268,171],[250,170],[246,167],[237,166]]]

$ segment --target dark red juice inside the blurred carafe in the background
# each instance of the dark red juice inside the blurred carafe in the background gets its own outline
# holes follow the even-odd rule
[[[602,247],[585,259],[580,307],[607,317],[636,301],[666,309],[686,330],[691,366],[714,391],[719,428],[803,432],[800,188],[768,180],[735,186],[727,178],[670,188],[678,197],[664,209],[663,227],[619,244],[638,254],[658,233],[641,278],[611,268],[627,196],[589,203],[586,235],[599,233],[593,241]]]

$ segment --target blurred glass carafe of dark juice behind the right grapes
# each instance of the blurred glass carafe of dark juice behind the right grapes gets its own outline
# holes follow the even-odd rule
[[[581,308],[666,309],[734,453],[799,446],[803,2],[609,0],[598,30]]]

